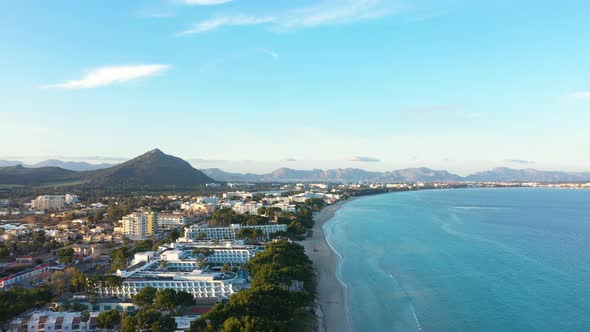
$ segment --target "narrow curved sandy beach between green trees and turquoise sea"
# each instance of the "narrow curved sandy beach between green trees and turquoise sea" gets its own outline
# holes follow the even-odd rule
[[[314,216],[313,235],[305,241],[299,242],[305,247],[306,254],[313,261],[317,274],[318,331],[321,332],[350,331],[346,314],[345,291],[336,277],[339,258],[326,242],[322,230],[324,223],[334,216],[336,210],[349,201],[340,201],[318,212]],[[318,251],[315,252],[314,248],[317,248]]]

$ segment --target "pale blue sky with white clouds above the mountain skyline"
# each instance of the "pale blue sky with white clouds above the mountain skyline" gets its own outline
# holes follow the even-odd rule
[[[590,171],[590,2],[3,1],[1,159]]]

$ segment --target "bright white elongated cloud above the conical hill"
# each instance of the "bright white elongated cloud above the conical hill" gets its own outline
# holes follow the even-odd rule
[[[56,89],[88,89],[135,80],[158,74],[170,66],[168,65],[127,65],[96,68],[82,78],[65,83],[53,84],[47,88]]]

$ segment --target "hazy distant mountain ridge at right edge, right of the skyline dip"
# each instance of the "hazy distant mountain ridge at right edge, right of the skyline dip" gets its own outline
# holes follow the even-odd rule
[[[590,172],[559,172],[559,171],[538,171],[534,169],[512,169],[498,167],[489,171],[477,172],[465,177],[467,181],[547,181],[547,182],[568,182],[568,181],[589,181]]]

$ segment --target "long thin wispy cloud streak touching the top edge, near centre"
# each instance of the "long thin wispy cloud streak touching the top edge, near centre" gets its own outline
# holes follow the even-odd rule
[[[223,26],[272,24],[277,30],[311,28],[329,24],[346,24],[380,18],[400,11],[391,0],[326,0],[319,4],[292,8],[273,15],[230,15],[194,24],[181,35],[202,33]]]

